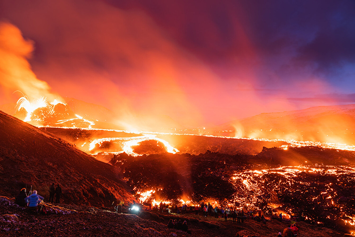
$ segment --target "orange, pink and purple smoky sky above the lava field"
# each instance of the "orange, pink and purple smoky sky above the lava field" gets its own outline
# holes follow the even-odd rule
[[[0,1],[0,101],[212,126],[355,103],[352,1]],[[159,122],[159,120],[157,120]]]

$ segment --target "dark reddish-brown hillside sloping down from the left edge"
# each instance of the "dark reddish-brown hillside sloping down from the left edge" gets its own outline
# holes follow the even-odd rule
[[[0,193],[16,196],[23,187],[48,200],[60,183],[65,203],[103,206],[134,198],[115,168],[97,161],[46,131],[0,111]]]

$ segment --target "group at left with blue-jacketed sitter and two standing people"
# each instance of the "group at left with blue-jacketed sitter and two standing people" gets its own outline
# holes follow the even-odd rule
[[[52,183],[52,185],[49,188],[49,202],[54,203],[54,197],[56,197],[56,203],[60,202],[62,196],[62,188],[58,184],[57,187],[55,187],[55,184]],[[31,190],[29,193],[26,192],[26,188],[22,188],[19,194],[15,198],[15,203],[20,205],[20,206],[27,206],[29,210],[36,210],[38,213],[41,213],[43,205],[41,204],[42,201],[45,198],[37,193],[37,190],[32,191],[32,186]]]

